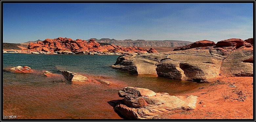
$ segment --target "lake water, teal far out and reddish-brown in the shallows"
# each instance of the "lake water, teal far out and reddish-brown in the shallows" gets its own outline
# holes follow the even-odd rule
[[[38,73],[2,71],[3,115],[16,119],[122,119],[110,105],[123,99],[118,91],[126,86],[148,88],[176,95],[200,84],[161,77],[136,76],[112,69],[119,55],[69,55],[2,53],[2,68],[29,66]],[[61,70],[84,75],[94,82],[59,83],[60,77],[46,77],[47,70],[61,76]],[[110,81],[104,85],[97,80]]]

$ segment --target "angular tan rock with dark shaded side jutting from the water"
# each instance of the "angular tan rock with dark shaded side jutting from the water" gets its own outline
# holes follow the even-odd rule
[[[88,81],[88,78],[85,77],[85,76],[82,76],[82,75],[79,75],[79,74],[76,74],[76,73],[73,73],[73,72],[70,72],[70,71],[61,71],[63,76],[71,81],[71,82],[74,82],[74,81],[81,81],[81,82],[85,82],[85,81]]]

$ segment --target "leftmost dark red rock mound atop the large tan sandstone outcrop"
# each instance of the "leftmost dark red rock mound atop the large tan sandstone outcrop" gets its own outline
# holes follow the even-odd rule
[[[201,40],[201,41],[197,41],[192,44],[189,44],[189,45],[185,45],[183,47],[178,47],[178,48],[174,49],[173,51],[187,50],[187,49],[198,48],[198,47],[208,47],[208,46],[213,46],[214,44],[215,44],[215,42],[213,42],[213,41]]]

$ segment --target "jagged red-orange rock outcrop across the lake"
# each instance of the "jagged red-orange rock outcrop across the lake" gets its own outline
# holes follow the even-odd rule
[[[140,47],[121,47],[116,45],[103,45],[95,41],[95,39],[90,39],[88,42],[86,40],[71,38],[55,38],[55,39],[45,39],[44,41],[37,41],[37,43],[30,43],[28,45],[29,52],[43,52],[43,53],[58,53],[58,54],[117,54],[121,55],[123,53],[133,53],[133,54],[143,54],[143,53],[156,53],[154,49],[143,49]]]

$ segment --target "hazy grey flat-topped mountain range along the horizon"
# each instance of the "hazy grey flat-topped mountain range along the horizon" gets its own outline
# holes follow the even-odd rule
[[[90,38],[92,39],[92,38]],[[86,40],[89,41],[90,39]],[[191,44],[193,42],[190,41],[181,41],[181,40],[131,40],[131,39],[125,39],[125,40],[116,40],[116,39],[109,39],[109,38],[101,38],[96,39],[94,38],[96,42],[98,43],[109,43],[114,45],[119,45],[122,47],[181,47],[188,44]],[[42,40],[36,40],[36,41],[28,41],[25,43],[36,43],[37,41]]]

